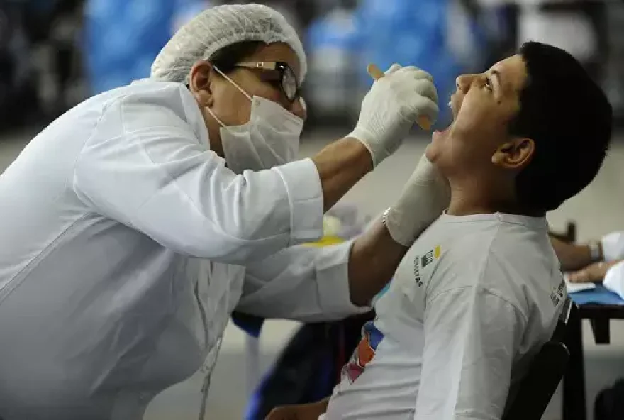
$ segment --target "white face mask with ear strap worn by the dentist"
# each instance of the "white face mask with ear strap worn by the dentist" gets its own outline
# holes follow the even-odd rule
[[[208,108],[221,124],[221,144],[230,170],[240,174],[244,170],[264,170],[295,160],[303,119],[274,101],[260,96],[252,98],[221,70],[216,67],[215,70],[251,101],[249,122],[242,126],[225,126]]]

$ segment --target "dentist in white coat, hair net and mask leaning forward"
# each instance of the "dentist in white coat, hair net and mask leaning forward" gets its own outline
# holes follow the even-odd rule
[[[393,66],[350,135],[295,160],[305,74],[279,13],[208,9],[150,79],[68,111],[0,175],[2,419],[140,419],[163,389],[209,375],[234,309],[366,310],[447,204],[426,159],[355,242],[298,244],[418,116],[435,119],[435,87]]]

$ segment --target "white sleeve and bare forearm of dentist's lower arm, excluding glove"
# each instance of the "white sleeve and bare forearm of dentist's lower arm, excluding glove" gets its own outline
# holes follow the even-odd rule
[[[407,249],[394,242],[381,221],[353,242],[286,248],[246,266],[236,310],[303,322],[367,312]]]

